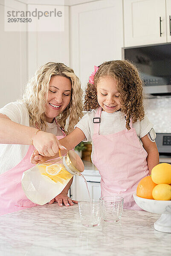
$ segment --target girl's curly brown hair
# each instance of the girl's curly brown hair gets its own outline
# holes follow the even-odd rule
[[[83,109],[92,111],[99,107],[97,84],[105,76],[110,76],[117,81],[121,111],[127,116],[126,128],[130,130],[130,118],[133,123],[144,118],[143,82],[137,68],[130,61],[106,61],[99,66],[94,76],[94,84],[87,84]]]

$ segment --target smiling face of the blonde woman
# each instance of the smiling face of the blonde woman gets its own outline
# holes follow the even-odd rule
[[[46,121],[53,122],[71,100],[71,81],[63,76],[52,76],[49,82],[47,106],[45,111]]]

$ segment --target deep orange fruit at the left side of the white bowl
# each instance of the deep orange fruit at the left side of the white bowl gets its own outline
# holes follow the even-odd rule
[[[152,196],[152,191],[155,186],[157,186],[157,184],[153,182],[151,176],[144,177],[138,183],[136,195],[142,198],[154,199]]]

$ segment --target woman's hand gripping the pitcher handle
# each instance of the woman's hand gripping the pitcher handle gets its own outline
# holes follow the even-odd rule
[[[58,153],[59,148],[61,150],[65,148],[54,134],[44,131],[38,131],[32,140],[33,145],[43,157],[53,157]]]

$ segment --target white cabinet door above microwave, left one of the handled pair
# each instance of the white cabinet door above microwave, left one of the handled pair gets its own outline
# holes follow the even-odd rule
[[[166,43],[165,0],[124,0],[125,47]]]

